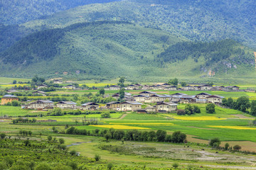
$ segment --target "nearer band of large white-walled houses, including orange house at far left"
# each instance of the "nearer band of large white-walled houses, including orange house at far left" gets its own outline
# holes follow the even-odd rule
[[[118,99],[119,94],[112,95],[113,98]],[[156,94],[153,91],[142,91],[138,95],[132,96],[127,92],[124,93],[124,102],[112,101],[107,103],[106,106],[100,106],[97,103],[88,102],[81,106],[77,106],[77,103],[73,101],[60,101],[53,103],[49,100],[38,100],[27,103],[21,106],[26,109],[53,109],[55,107],[62,109],[80,109],[95,111],[98,109],[113,109],[117,111],[137,111],[137,112],[171,112],[177,111],[178,103],[215,103],[221,104],[223,96],[211,95],[207,93],[200,93],[194,96],[176,93],[176,94]],[[1,98],[1,105],[4,105],[11,101],[18,101],[17,96],[5,95]],[[149,106],[142,109],[142,103],[156,103],[155,106]]]

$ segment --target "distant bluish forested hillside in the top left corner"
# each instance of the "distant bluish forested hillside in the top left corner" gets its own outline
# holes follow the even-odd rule
[[[76,6],[117,0],[8,0],[0,1],[0,23],[17,24],[52,15]]]

